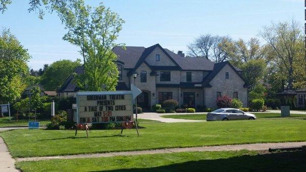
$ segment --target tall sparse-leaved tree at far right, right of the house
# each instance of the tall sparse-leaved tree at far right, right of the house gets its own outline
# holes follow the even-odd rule
[[[306,59],[301,58],[304,57],[304,47],[301,46],[304,38],[299,23],[294,20],[291,23],[272,23],[263,28],[260,36],[271,48],[270,65],[277,67],[278,80],[283,82],[283,86],[286,85],[286,89],[293,89],[298,69],[306,70]]]

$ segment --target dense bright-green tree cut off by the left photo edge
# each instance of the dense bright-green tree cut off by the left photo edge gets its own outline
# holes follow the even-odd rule
[[[15,102],[27,86],[24,77],[28,73],[28,50],[9,30],[0,35],[0,104]]]

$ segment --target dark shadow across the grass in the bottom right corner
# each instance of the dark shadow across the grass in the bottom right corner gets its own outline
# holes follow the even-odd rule
[[[157,171],[305,171],[306,151],[283,152],[264,155],[243,155],[227,159],[188,161],[151,168],[125,168],[90,172],[157,172]],[[153,160],[152,160],[153,161]]]

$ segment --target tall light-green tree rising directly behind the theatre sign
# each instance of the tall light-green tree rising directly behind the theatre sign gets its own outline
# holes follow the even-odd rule
[[[64,40],[81,48],[84,74],[75,78],[82,90],[115,90],[118,82],[117,56],[112,52],[124,21],[102,4],[92,8],[75,1],[70,8],[57,9],[68,33]]]

